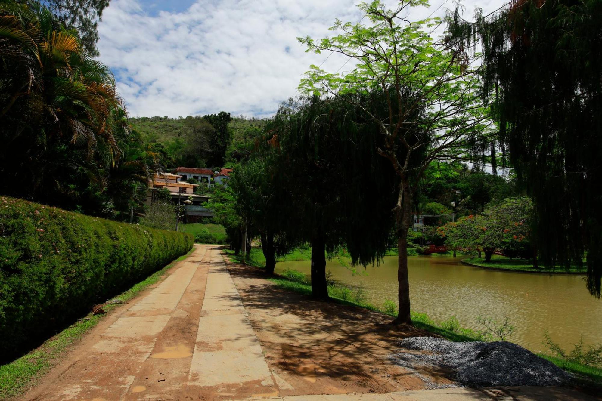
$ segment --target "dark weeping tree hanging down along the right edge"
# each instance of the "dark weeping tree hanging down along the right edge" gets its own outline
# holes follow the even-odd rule
[[[515,0],[476,22],[456,9],[448,44],[482,49],[482,96],[536,211],[544,266],[587,265],[602,276],[602,2]]]

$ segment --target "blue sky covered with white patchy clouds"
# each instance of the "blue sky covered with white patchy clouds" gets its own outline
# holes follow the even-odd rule
[[[230,111],[271,116],[293,96],[310,64],[299,36],[329,35],[335,18],[356,22],[353,0],[111,0],[99,23],[100,60],[111,67],[131,116],[187,116]],[[465,0],[489,13],[505,0]],[[395,5],[396,2],[388,0]],[[436,8],[442,5],[439,10]],[[444,16],[453,0],[412,8],[410,19]],[[332,36],[332,33],[330,33]],[[346,58],[334,54],[334,72]],[[343,70],[352,67],[352,63]]]

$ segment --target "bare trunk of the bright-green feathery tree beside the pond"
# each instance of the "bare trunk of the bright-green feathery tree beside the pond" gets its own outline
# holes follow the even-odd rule
[[[411,325],[410,317],[410,286],[408,280],[408,230],[411,223],[412,198],[409,185],[400,184],[397,200],[397,300],[399,311],[394,323]]]

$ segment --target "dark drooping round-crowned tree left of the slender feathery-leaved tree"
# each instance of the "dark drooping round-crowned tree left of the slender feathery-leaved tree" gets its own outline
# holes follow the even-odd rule
[[[290,101],[266,129],[278,154],[272,182],[288,204],[272,218],[289,241],[311,243],[312,296],[327,299],[326,256],[344,249],[366,266],[385,255],[396,176],[377,152],[378,126],[350,102]]]

